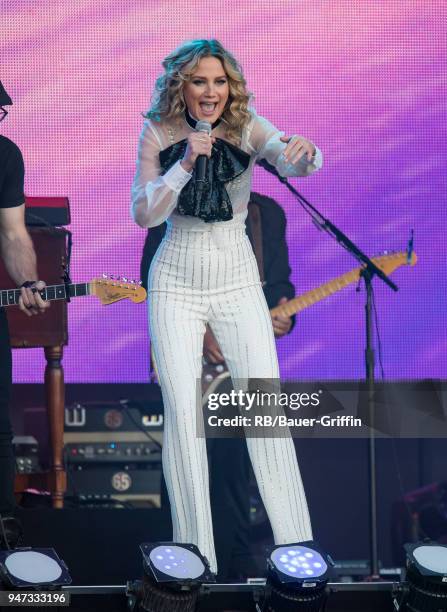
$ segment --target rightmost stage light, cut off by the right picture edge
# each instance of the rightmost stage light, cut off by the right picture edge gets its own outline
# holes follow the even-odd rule
[[[447,546],[427,541],[404,548],[406,585],[395,607],[409,612],[447,610]]]

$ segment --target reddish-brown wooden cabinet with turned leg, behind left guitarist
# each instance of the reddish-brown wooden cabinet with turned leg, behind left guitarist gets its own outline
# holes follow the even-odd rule
[[[39,277],[47,285],[60,284],[67,263],[67,231],[60,228],[28,228],[37,254]],[[15,286],[0,261],[0,288]],[[43,315],[27,317],[18,307],[6,308],[13,348],[43,348],[46,358],[45,400],[51,441],[51,467],[41,474],[17,474],[15,492],[29,487],[50,491],[54,508],[62,508],[66,486],[63,465],[64,371],[63,347],[68,343],[67,304],[54,301]]]

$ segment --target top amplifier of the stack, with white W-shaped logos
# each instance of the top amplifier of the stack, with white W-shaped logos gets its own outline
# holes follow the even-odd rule
[[[161,402],[141,405],[129,400],[85,402],[65,408],[66,433],[160,432],[163,431]]]

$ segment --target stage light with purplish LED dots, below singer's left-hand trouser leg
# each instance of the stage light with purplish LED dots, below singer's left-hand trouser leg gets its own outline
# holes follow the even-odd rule
[[[202,584],[215,582],[194,544],[141,544],[145,574],[140,607],[147,612],[193,612]]]

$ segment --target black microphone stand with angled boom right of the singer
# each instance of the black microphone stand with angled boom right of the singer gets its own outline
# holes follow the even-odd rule
[[[372,299],[373,289],[372,280],[374,276],[380,278],[390,289],[398,291],[398,287],[388,276],[378,268],[371,259],[363,253],[338,227],[329,219],[326,219],[320,211],[315,208],[304,196],[302,196],[291,185],[287,178],[280,176],[274,166],[265,160],[258,160],[258,165],[262,166],[267,172],[276,176],[281,183],[295,196],[300,205],[312,218],[312,222],[320,230],[324,230],[329,236],[336,240],[340,246],[346,249],[363,266],[361,277],[365,282],[366,303],[365,303],[365,328],[366,328],[366,347],[365,347],[365,372],[368,392],[368,417],[369,417],[369,437],[368,437],[368,475],[369,475],[369,509],[370,509],[370,571],[371,579],[379,580],[379,559],[378,559],[378,535],[377,535],[377,475],[376,475],[376,437],[374,430],[374,365],[375,354],[373,348],[372,334]],[[411,257],[411,254],[410,254]]]

